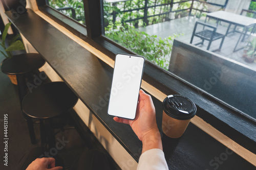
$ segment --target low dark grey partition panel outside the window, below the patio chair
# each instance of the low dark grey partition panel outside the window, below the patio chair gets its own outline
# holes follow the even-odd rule
[[[174,40],[168,70],[256,119],[256,108],[249,107],[256,105],[256,71],[250,67]]]

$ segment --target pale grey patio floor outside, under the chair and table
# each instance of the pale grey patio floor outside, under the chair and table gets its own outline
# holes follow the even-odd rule
[[[204,22],[204,19],[205,18],[201,17],[200,20]],[[178,39],[189,43],[190,39],[191,39],[191,35],[193,33],[195,22],[197,20],[199,20],[199,19],[195,18],[193,16],[187,16],[187,17],[174,19],[171,21],[156,23],[154,25],[139,28],[139,30],[146,32],[149,35],[157,35],[158,37],[161,37],[162,39],[165,37],[171,36],[173,34],[180,34]],[[211,19],[208,22],[211,25],[216,26],[216,21],[214,19]],[[232,28],[233,28],[233,26],[231,26],[230,30],[232,30]],[[202,27],[198,27],[197,31],[200,29],[202,29]],[[240,30],[241,30],[241,28],[240,28]],[[217,28],[217,32],[221,33],[221,34],[225,34],[226,31],[227,31],[227,24],[225,22],[221,22]],[[242,57],[243,50],[233,52],[234,47],[236,46],[236,43],[238,42],[239,37],[240,37],[240,33],[237,33],[237,32],[228,34],[224,39],[224,43],[222,45],[221,51],[215,52],[215,53],[222,55],[224,57],[233,59],[240,63],[243,63],[243,64],[249,66],[251,69],[256,70],[256,63],[247,63],[244,61],[244,58]],[[193,44],[200,42],[200,41],[201,41],[200,38],[194,37]],[[244,42],[239,42],[237,49],[245,46],[246,41],[247,40],[245,40]],[[211,43],[209,50],[214,51],[217,48],[219,48],[220,42],[221,42],[221,39],[213,41]],[[202,47],[204,50],[206,50],[207,45],[208,45],[208,41],[205,41],[203,45],[198,45],[198,46]]]

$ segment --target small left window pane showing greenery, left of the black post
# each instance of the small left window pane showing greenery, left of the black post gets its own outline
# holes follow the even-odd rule
[[[47,0],[49,6],[86,25],[82,0]]]

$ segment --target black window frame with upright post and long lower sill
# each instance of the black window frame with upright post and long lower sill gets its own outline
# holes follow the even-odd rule
[[[37,2],[40,1],[46,1],[46,0],[37,0]],[[116,44],[115,42],[109,40],[108,38],[105,38],[102,35],[103,31],[103,20],[102,20],[102,0],[95,0],[95,2],[91,2],[89,0],[83,0],[84,2],[84,9],[86,10],[85,16],[86,16],[86,22],[87,22],[87,32],[88,38],[84,38],[84,41],[90,43],[93,47],[97,48],[102,53],[108,55],[111,59],[115,59],[115,54],[117,53],[124,53],[124,54],[135,54],[134,52],[131,52],[127,50],[126,48]],[[227,3],[227,1],[226,1]],[[42,4],[42,3],[41,3]],[[45,4],[46,5],[46,4]],[[226,4],[225,4],[226,5]],[[49,7],[45,7],[49,8]],[[88,11],[87,11],[88,10]],[[95,15],[95,13],[98,13]],[[47,13],[46,13],[47,14]],[[52,14],[50,14],[51,17],[54,17]],[[57,21],[56,18],[54,20]],[[96,21],[96,22],[95,22]],[[99,21],[99,22],[98,22]],[[100,22],[101,21],[101,22]],[[66,23],[63,23],[61,20],[57,21],[61,25],[71,28],[72,25],[68,25]],[[74,21],[75,22],[75,21]],[[81,28],[85,28],[84,26],[80,26]],[[72,30],[74,34],[77,34],[77,30]],[[81,33],[80,33],[81,34]],[[136,55],[136,54],[135,54]],[[177,81],[183,81],[177,78],[175,75],[171,74],[169,71],[163,70],[159,66],[146,61],[145,65],[145,71],[143,79],[150,83],[152,86],[156,87],[157,89],[161,89],[164,93],[180,93],[181,91],[193,95],[197,95],[201,101],[207,101],[207,104],[200,103],[203,107],[199,110],[202,111],[202,114],[199,115],[202,117],[206,122],[210,123],[214,126],[216,129],[224,133],[225,135],[229,136],[231,139],[237,141],[239,144],[245,146],[248,144],[247,139],[249,138],[249,142],[253,145],[253,143],[256,142],[255,137],[253,137],[253,134],[250,134],[248,129],[250,129],[253,125],[255,125],[255,119],[245,118],[245,124],[243,124],[243,127],[237,126],[236,119],[240,119],[240,117],[243,117],[239,111],[230,109],[226,107],[223,103],[220,103],[216,101],[211,96],[207,96],[203,94],[202,92],[199,92],[194,86],[191,86],[187,84],[186,86],[180,86],[179,84],[176,84],[174,82],[170,83],[168,80],[170,77],[173,77],[177,79]],[[172,86],[170,86],[172,84]],[[200,95],[199,95],[200,93]],[[204,106],[208,109],[204,109]],[[216,106],[219,108],[225,108],[224,112],[219,113],[216,111]],[[220,115],[232,115],[229,120],[222,120],[218,118],[215,114]],[[232,117],[236,117],[233,119]],[[244,117],[243,117],[244,119]],[[220,126],[221,125],[221,126]],[[232,128],[236,127],[236,128]],[[252,149],[253,153],[255,152],[254,149]]]

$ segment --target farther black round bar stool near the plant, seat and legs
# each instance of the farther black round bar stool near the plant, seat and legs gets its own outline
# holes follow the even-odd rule
[[[6,59],[2,66],[2,72],[7,75],[16,75],[17,77],[17,87],[19,94],[20,107],[22,108],[22,100],[27,93],[25,75],[29,72],[39,69],[45,64],[45,60],[40,54],[27,53],[15,55],[12,58]],[[35,132],[31,117],[23,114],[27,120],[29,135],[31,143],[35,143]]]

